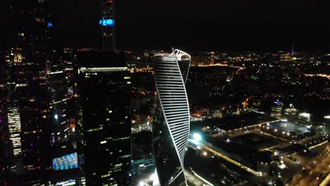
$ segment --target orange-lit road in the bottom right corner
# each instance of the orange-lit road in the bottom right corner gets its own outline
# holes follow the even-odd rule
[[[298,173],[293,177],[289,186],[318,186],[322,180],[329,174],[330,171],[330,151],[326,149],[326,152],[317,157],[316,161],[306,166],[304,173]],[[317,178],[319,177],[319,180]]]

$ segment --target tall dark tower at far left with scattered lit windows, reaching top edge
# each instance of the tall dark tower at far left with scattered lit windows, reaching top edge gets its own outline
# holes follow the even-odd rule
[[[23,168],[44,173],[51,168],[47,80],[47,54],[53,27],[50,5],[49,1],[11,2],[13,44],[6,56],[8,101],[13,105],[11,117],[16,118],[15,112],[20,112]]]

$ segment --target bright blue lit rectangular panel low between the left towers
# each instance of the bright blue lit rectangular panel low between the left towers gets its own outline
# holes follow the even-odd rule
[[[54,171],[61,171],[71,168],[78,168],[78,157],[77,153],[67,154],[59,158],[53,159]]]

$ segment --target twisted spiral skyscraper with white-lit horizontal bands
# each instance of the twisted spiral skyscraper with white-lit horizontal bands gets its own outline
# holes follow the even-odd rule
[[[157,104],[153,139],[156,171],[154,185],[187,185],[183,159],[188,144],[190,115],[185,81],[190,56],[183,51],[154,57]]]

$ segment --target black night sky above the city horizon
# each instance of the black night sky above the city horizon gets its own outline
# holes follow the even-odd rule
[[[95,46],[100,2],[54,1],[56,41]],[[326,1],[118,0],[116,10],[121,49],[276,51],[290,50],[294,42],[297,51],[330,50]]]

